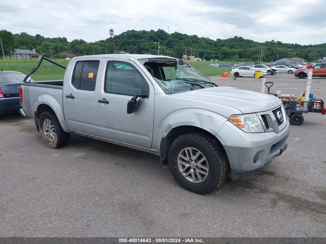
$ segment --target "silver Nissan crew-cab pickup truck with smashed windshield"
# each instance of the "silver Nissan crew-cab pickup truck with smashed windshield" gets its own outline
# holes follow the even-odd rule
[[[235,179],[288,146],[289,121],[278,98],[218,87],[171,57],[75,57],[63,80],[22,83],[20,97],[21,114],[35,119],[48,147],[66,145],[74,132],[151,152],[199,194],[218,188],[229,169]]]

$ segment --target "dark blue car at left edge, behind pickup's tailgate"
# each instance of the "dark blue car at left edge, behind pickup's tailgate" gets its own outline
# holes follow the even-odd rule
[[[19,88],[25,76],[21,72],[0,71],[0,113],[12,113],[22,108]]]

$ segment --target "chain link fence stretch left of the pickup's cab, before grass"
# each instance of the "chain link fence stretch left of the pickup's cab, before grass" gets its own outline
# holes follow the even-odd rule
[[[67,67],[67,64],[62,64]],[[0,70],[17,71],[27,75],[37,64],[0,64]],[[31,78],[39,80],[62,80],[65,75],[65,69],[54,64],[43,62],[40,67],[32,74]]]

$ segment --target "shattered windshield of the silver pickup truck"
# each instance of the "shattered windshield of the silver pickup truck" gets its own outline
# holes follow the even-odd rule
[[[210,79],[182,60],[174,58],[153,58],[139,59],[138,61],[147,69],[166,94],[217,86]]]

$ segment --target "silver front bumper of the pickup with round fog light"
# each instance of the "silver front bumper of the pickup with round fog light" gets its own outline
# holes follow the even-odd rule
[[[227,140],[220,141],[228,155],[231,169],[237,174],[245,173],[272,162],[287,149],[289,121],[278,134],[274,131],[245,133],[233,124],[226,122],[219,130],[219,136],[224,138],[227,136]],[[256,153],[258,159],[254,163]]]

